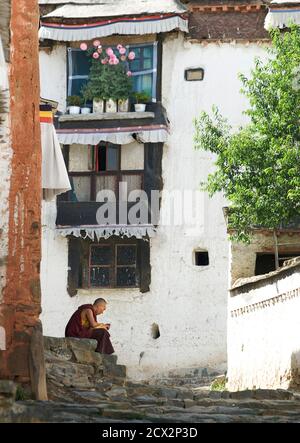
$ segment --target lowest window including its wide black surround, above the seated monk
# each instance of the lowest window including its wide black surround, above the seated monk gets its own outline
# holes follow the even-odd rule
[[[69,237],[68,292],[79,288],[140,288],[148,292],[151,280],[150,242],[110,237],[94,242]]]

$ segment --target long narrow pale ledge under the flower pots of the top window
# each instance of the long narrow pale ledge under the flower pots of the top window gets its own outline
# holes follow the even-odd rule
[[[64,122],[87,122],[87,121],[102,121],[102,120],[139,120],[139,119],[154,119],[154,112],[104,112],[93,114],[65,114],[58,118],[60,123]]]

